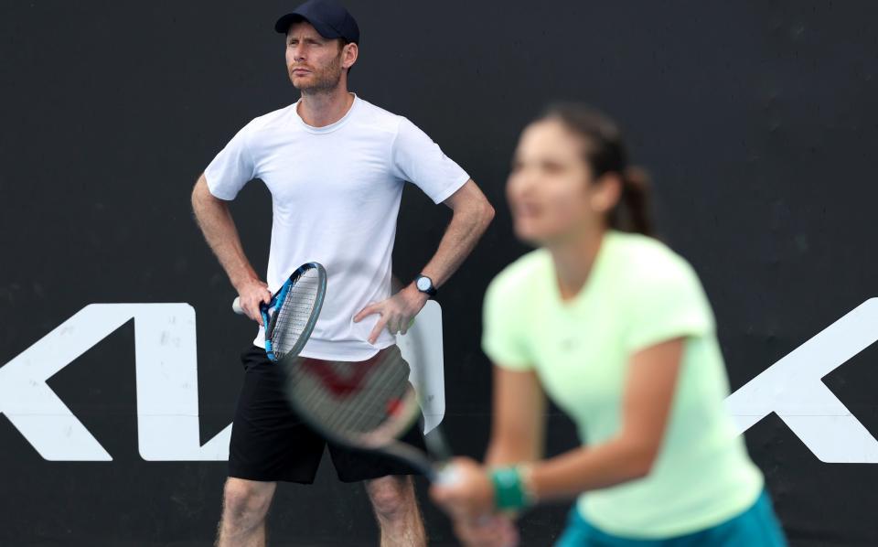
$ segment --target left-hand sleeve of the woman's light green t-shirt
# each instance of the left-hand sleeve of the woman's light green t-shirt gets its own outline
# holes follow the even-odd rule
[[[522,323],[528,314],[516,310],[516,296],[519,291],[504,287],[502,279],[495,279],[485,294],[482,312],[482,349],[488,359],[504,369],[531,370],[533,359],[530,356],[527,332]]]

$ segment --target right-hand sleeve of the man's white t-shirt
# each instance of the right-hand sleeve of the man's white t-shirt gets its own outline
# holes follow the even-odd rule
[[[469,180],[466,171],[406,118],[400,121],[391,154],[394,175],[417,185],[434,203],[444,201]]]

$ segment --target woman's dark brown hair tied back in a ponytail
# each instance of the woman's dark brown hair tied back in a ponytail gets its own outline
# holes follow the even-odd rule
[[[622,180],[622,196],[610,211],[609,226],[653,235],[649,177],[643,169],[628,166],[622,132],[616,123],[603,113],[576,102],[552,104],[539,119],[558,120],[573,134],[583,137],[584,159],[595,179],[616,173]]]

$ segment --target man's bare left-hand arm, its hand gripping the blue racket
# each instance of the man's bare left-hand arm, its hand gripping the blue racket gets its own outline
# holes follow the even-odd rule
[[[244,312],[262,325],[259,303],[268,303],[272,294],[244,254],[228,202],[210,193],[204,175],[198,177],[198,182],[192,189],[192,210],[195,212],[198,227],[204,233],[204,239],[217,255],[230,283],[238,291]]]

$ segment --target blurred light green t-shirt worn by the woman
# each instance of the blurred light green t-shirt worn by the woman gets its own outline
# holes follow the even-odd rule
[[[562,301],[551,255],[530,252],[488,287],[482,340],[509,370],[536,370],[543,389],[599,445],[622,426],[631,356],[686,338],[658,459],[649,475],[584,493],[585,519],[612,534],[666,538],[747,509],[763,488],[725,408],[729,393],[713,314],[689,263],[663,243],[609,231],[583,289]]]

